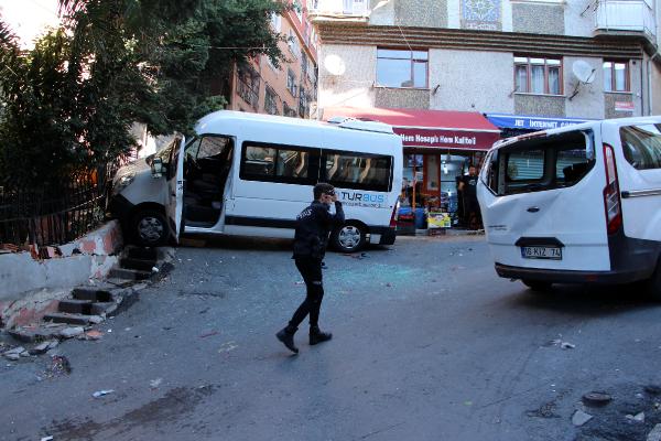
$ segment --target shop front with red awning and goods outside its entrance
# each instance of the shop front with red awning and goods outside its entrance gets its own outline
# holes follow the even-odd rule
[[[400,218],[412,229],[466,226],[459,182],[500,139],[481,114],[467,111],[330,107],[323,119],[351,117],[392,126],[402,138],[404,170]]]

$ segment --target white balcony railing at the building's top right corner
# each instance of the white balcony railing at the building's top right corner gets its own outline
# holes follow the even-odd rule
[[[640,32],[657,35],[654,11],[644,0],[598,0],[596,31]]]

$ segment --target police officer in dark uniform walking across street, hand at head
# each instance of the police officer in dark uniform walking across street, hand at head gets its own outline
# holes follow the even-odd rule
[[[326,342],[333,337],[333,334],[322,332],[318,326],[319,309],[324,298],[322,260],[326,252],[330,230],[336,225],[342,225],[345,219],[342,203],[337,201],[333,185],[318,183],[314,186],[313,193],[312,204],[296,217],[293,256],[296,268],[305,281],[307,293],[289,324],[275,334],[278,340],[296,354],[299,348],[294,344],[294,333],[308,314],[311,345]],[[330,213],[333,203],[335,203],[335,214]]]

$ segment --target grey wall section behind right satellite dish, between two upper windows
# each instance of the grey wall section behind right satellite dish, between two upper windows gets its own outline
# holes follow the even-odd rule
[[[595,77],[590,84],[582,84],[578,86],[577,94],[574,98],[568,99],[576,89],[576,84],[578,83],[572,73],[572,65],[578,60],[588,63],[595,69]],[[590,119],[604,118],[604,74],[602,69],[602,58],[565,56],[563,60],[563,79],[564,92],[567,97],[565,101],[567,117]]]

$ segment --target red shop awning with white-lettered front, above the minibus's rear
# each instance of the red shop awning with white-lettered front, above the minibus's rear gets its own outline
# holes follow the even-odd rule
[[[408,148],[488,150],[500,130],[476,111],[325,107],[323,119],[351,117],[392,126]]]

